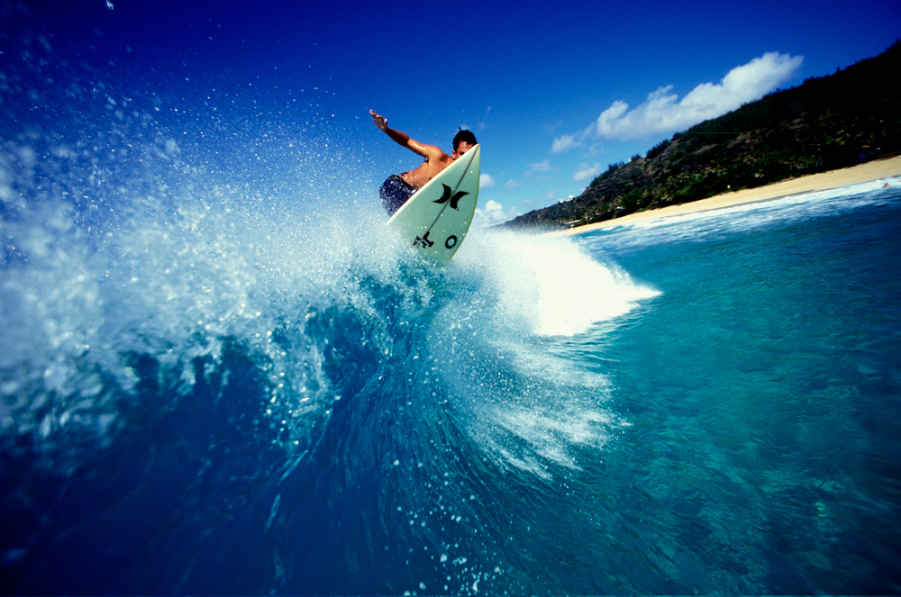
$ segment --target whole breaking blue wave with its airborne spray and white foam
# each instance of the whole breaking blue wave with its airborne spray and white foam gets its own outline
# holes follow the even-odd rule
[[[187,135],[49,44],[0,88],[11,592],[529,586],[479,504],[598,460],[628,423],[596,345],[657,292],[571,239],[435,269],[341,131]]]

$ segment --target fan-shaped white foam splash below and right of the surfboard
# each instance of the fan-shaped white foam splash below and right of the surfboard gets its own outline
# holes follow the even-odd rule
[[[549,478],[627,425],[605,374],[571,338],[615,324],[659,291],[590,257],[578,241],[476,233],[451,264],[461,291],[432,326],[432,356],[488,457]],[[585,340],[589,344],[591,341]]]

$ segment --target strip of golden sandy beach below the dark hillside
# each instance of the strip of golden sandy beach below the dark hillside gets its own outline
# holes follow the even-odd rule
[[[669,218],[670,216],[682,215],[683,213],[705,212],[724,207],[732,207],[733,205],[767,201],[777,197],[784,197],[789,194],[810,193],[812,191],[824,191],[842,186],[858,185],[860,183],[880,180],[890,176],[901,176],[901,156],[878,159],[867,162],[866,164],[842,168],[841,170],[832,170],[831,172],[821,172],[820,174],[791,178],[772,185],[744,189],[742,191],[735,191],[734,193],[718,194],[715,197],[702,199],[701,201],[695,201],[689,204],[671,205],[657,210],[630,213],[622,218],[615,218],[614,220],[597,222],[595,224],[587,224],[586,226],[577,226],[565,231],[554,231],[550,232],[550,234],[561,236],[582,234],[584,232],[595,231],[599,228],[609,228],[644,220],[659,220],[660,218]],[[892,181],[890,184],[901,184],[901,180]]]

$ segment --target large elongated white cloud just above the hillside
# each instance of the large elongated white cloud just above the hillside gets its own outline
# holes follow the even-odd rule
[[[660,87],[648,95],[641,105],[629,110],[629,104],[615,101],[594,124],[584,131],[585,137],[634,140],[660,133],[684,131],[747,104],[796,77],[803,56],[768,52],[748,64],[735,67],[718,84],[696,86],[678,101],[673,86]],[[566,136],[554,140],[562,147]],[[551,149],[554,151],[556,149]]]

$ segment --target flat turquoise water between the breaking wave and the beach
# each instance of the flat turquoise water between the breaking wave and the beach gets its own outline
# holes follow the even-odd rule
[[[897,592],[892,183],[583,238],[661,291],[605,339],[640,590]]]

